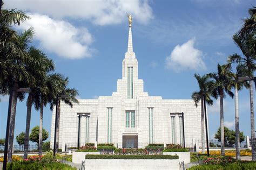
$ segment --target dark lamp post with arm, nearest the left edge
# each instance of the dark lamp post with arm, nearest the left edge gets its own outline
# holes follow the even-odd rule
[[[31,93],[30,88],[18,88],[18,84],[14,84],[12,90],[10,90],[9,94],[9,106],[8,106],[8,116],[7,116],[7,124],[6,124],[6,134],[5,134],[5,144],[4,144],[4,162],[3,162],[3,170],[6,170],[7,163],[7,152],[9,145],[9,133],[10,133],[10,118],[11,118],[11,106],[12,106],[12,95],[14,91],[23,92],[23,93]]]

